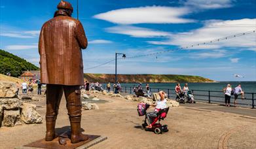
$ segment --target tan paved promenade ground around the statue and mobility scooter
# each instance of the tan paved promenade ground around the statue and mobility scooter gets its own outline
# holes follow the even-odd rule
[[[92,148],[256,148],[256,119],[211,110],[173,107],[162,124],[168,133],[156,135],[141,129],[143,116],[137,115],[137,102],[100,95],[107,103],[99,110],[82,110],[84,133],[102,135],[106,141]],[[45,99],[34,102],[45,118]],[[210,112],[209,112],[210,111]],[[255,110],[252,110],[255,112]],[[69,129],[69,119],[62,99],[56,131]],[[1,127],[0,148],[14,148],[45,137],[43,124]]]

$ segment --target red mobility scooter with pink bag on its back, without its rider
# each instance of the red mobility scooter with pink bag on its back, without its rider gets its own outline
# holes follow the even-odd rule
[[[163,108],[159,112],[149,112],[149,113],[147,113],[147,108],[149,108],[149,105],[145,103],[139,103],[137,107],[138,107],[137,112],[139,113],[139,116],[145,115],[145,120],[144,120],[144,123],[142,124],[142,129],[145,129],[145,131],[154,131],[156,134],[169,131],[168,125],[160,124],[160,120],[164,120],[164,118],[166,118],[169,107]],[[164,112],[165,112],[165,116],[162,117],[161,115]],[[156,117],[158,118],[158,123],[152,125],[152,128],[147,128],[147,125],[151,124]]]

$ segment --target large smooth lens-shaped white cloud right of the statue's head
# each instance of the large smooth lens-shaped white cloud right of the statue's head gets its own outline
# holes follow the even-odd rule
[[[194,20],[181,18],[191,11],[185,7],[137,7],[121,8],[101,14],[94,18],[115,24],[183,24]]]

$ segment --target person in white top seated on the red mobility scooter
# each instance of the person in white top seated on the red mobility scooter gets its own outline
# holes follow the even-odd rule
[[[160,95],[160,100],[156,102],[156,105],[152,105],[152,106],[156,107],[155,111],[152,112],[152,115],[156,115],[161,109],[167,108],[166,99],[164,98],[164,96],[165,96],[164,91],[159,91],[159,95]],[[166,116],[166,112],[162,112],[161,117],[165,117],[165,116]],[[153,122],[151,124],[149,124],[147,126],[147,128],[152,128],[152,125],[154,125],[157,122],[157,120],[158,120],[158,117],[156,116],[153,119]]]

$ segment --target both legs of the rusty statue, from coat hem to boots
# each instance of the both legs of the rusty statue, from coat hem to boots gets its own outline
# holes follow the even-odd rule
[[[79,86],[64,86],[57,84],[46,85],[46,137],[45,141],[55,138],[55,123],[64,92],[66,107],[71,124],[71,142],[76,143],[88,139],[81,133],[81,91]]]

